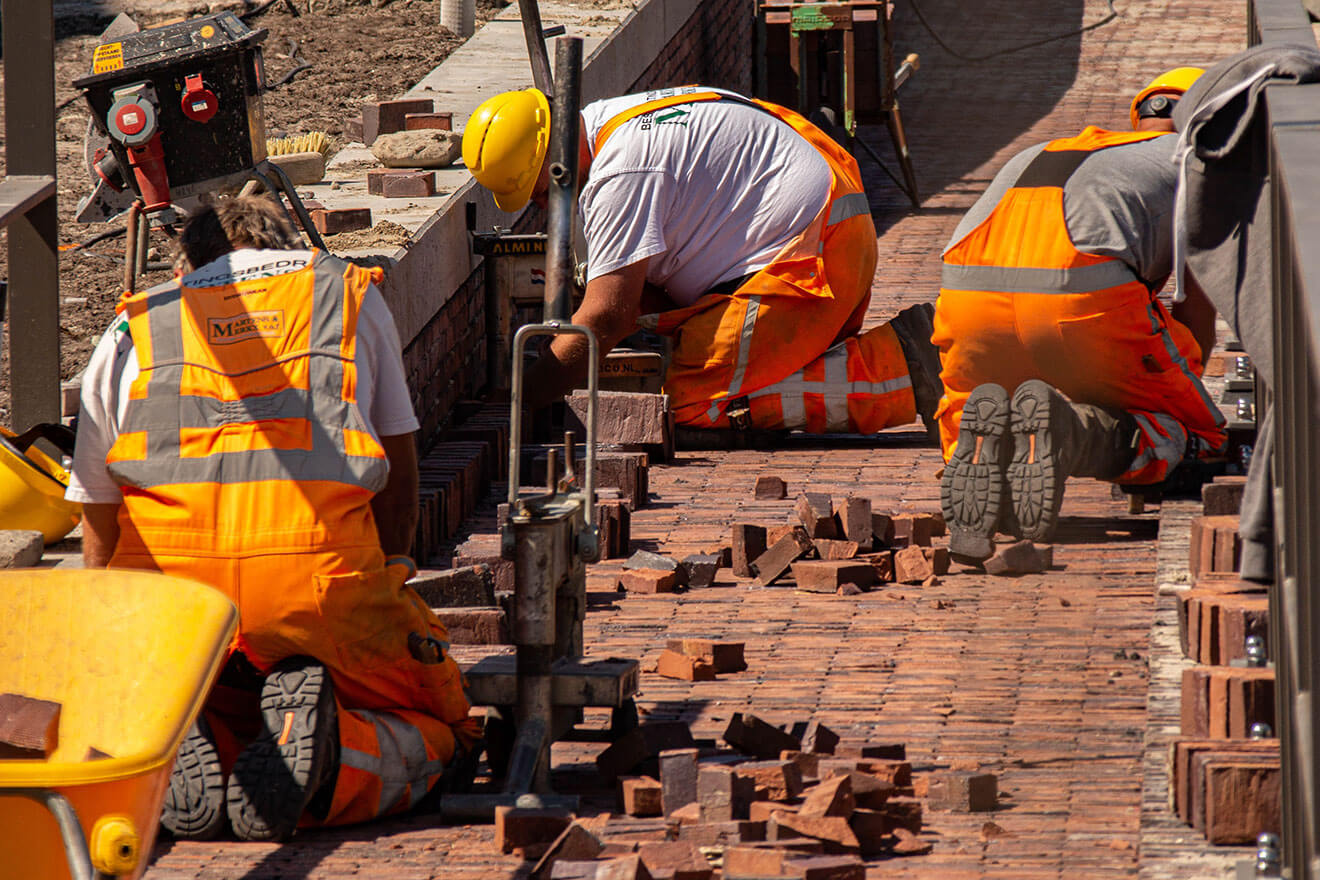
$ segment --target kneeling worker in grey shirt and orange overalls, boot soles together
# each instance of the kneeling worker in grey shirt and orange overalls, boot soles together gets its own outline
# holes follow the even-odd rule
[[[1089,127],[995,175],[944,251],[936,302],[950,551],[991,555],[995,530],[1049,538],[1069,476],[1162,482],[1224,443],[1200,375],[1214,310],[1188,278],[1172,314],[1177,169],[1172,108],[1200,75],[1156,77],[1131,132]]]

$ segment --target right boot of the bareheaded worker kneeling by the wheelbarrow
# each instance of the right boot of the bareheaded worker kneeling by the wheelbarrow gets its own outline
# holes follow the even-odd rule
[[[230,774],[230,823],[244,840],[286,840],[339,765],[339,724],[325,666],[310,657],[276,664],[261,687],[261,723],[265,730]]]

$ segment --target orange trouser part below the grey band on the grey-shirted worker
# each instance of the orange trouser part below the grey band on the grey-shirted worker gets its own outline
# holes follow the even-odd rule
[[[1094,294],[941,290],[932,342],[942,365],[936,418],[945,460],[977,385],[995,383],[1011,394],[1028,379],[1073,402],[1134,416],[1137,456],[1118,483],[1163,480],[1183,459],[1188,434],[1208,449],[1224,445],[1224,417],[1201,384],[1192,331],[1135,285]]]

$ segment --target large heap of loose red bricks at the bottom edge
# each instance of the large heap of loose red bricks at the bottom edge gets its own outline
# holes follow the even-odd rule
[[[502,809],[496,846],[537,859],[532,877],[862,879],[865,859],[929,852],[916,782],[933,809],[997,809],[991,774],[917,780],[902,744],[842,743],[816,720],[738,712],[723,741],[645,724],[597,760],[620,813]]]

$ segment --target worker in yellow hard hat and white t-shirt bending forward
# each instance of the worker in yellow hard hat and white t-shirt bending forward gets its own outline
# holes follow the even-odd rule
[[[502,210],[545,206],[549,125],[535,88],[469,120],[463,161]],[[789,110],[701,86],[595,102],[579,131],[587,282],[573,321],[602,354],[639,327],[669,336],[678,424],[869,434],[921,414],[933,429],[932,307],[861,332],[875,227],[846,150]],[[581,336],[556,338],[527,402],[578,387],[586,359]]]

